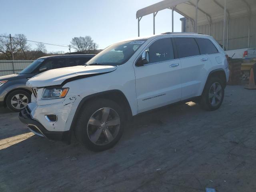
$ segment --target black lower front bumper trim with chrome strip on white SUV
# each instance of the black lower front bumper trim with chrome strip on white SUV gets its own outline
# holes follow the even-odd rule
[[[30,114],[30,109],[28,107],[24,108],[19,113],[19,119],[22,123],[28,126],[29,130],[36,135],[41,137],[46,137],[49,140],[59,140],[70,142],[70,131],[48,131],[40,122],[32,119]]]

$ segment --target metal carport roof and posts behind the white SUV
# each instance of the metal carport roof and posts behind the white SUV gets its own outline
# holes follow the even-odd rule
[[[153,14],[153,34],[155,34],[156,14],[164,9],[172,10],[172,32],[174,31],[174,11],[191,21],[194,32],[197,32],[198,24],[208,24],[209,31],[211,31],[213,22],[223,21],[222,44],[225,45],[230,17],[234,18],[245,15],[248,16],[250,21],[252,12],[256,13],[256,0],[163,0],[136,12],[138,36],[140,36],[140,20],[148,14]],[[250,25],[248,26],[248,47],[249,42]]]

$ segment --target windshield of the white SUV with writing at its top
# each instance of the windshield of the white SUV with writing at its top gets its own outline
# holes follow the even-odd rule
[[[87,65],[122,65],[128,61],[136,50],[146,41],[125,41],[113,44],[94,56]]]

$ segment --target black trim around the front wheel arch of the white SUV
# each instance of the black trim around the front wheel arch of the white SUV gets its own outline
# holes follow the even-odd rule
[[[99,92],[92,95],[88,95],[80,101],[76,109],[76,112],[74,114],[74,117],[70,126],[70,131],[74,130],[74,127],[76,126],[76,121],[78,119],[80,112],[83,109],[83,106],[85,106],[86,103],[90,102],[91,100],[97,100],[97,99],[108,99],[116,102],[117,104],[120,105],[121,108],[124,108],[124,114],[126,116],[126,120],[130,120],[130,118],[132,117],[132,110],[131,110],[130,104],[122,91],[108,90],[104,92]]]

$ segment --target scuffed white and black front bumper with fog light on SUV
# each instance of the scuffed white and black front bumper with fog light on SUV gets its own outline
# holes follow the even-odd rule
[[[70,143],[70,126],[80,100],[80,96],[69,96],[61,100],[32,102],[20,112],[19,118],[39,136]]]

